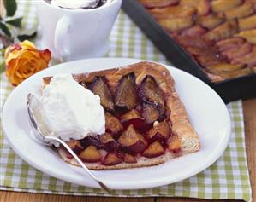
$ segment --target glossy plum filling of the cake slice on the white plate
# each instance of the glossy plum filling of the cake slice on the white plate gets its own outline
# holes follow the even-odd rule
[[[116,88],[110,88],[105,77],[80,85],[99,95],[106,129],[104,134],[67,142],[82,161],[106,166],[135,164],[139,157],[152,159],[181,148],[179,137],[171,131],[164,93],[152,76],[136,84],[134,73],[129,73]]]

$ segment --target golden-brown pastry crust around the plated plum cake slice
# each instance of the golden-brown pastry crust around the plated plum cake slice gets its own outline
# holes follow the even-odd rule
[[[129,66],[123,66],[120,68],[114,68],[109,70],[103,70],[98,72],[80,73],[73,75],[77,82],[92,82],[95,76],[105,76],[110,84],[111,88],[116,89],[116,86],[122,76],[134,72],[136,78],[136,84],[140,84],[142,80],[151,75],[155,78],[159,88],[164,92],[166,107],[170,110],[170,120],[172,123],[172,132],[179,136],[182,142],[182,149],[179,155],[186,153],[194,153],[199,150],[199,136],[193,129],[192,124],[189,121],[188,113],[176,93],[174,79],[170,76],[170,72],[164,67],[153,62],[140,62]],[[44,84],[50,83],[51,77],[44,78]],[[63,149],[59,150],[61,157],[69,164],[75,164],[74,160],[68,159]],[[66,157],[66,158],[65,158]],[[116,164],[112,166],[105,166],[101,164],[86,164],[90,169],[94,170],[110,170],[110,169],[122,169],[122,168],[134,168],[141,166],[150,166],[154,164],[163,164],[168,159],[175,158],[173,153],[166,152],[163,156],[148,159],[140,157],[140,160],[136,164]],[[78,164],[75,164],[78,165]]]

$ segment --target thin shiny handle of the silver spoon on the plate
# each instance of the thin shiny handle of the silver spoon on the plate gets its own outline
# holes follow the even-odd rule
[[[68,145],[67,145],[64,141],[62,141],[61,139],[59,139],[59,138],[57,138],[57,137],[54,137],[54,136],[45,136],[45,141],[57,141],[57,142],[59,142],[60,144],[62,144],[63,147],[65,147],[65,148],[68,150],[68,152],[74,157],[74,159],[81,165],[81,167],[82,167],[84,170],[86,170],[86,172],[87,172],[90,176],[92,176],[92,178],[93,178],[96,182],[98,182],[99,186],[100,186],[101,188],[103,188],[105,191],[110,192],[110,188],[108,188],[108,187],[104,184],[104,182],[99,181],[98,178],[92,174],[92,172],[86,167],[85,164],[83,164],[83,162],[80,160],[80,158],[73,152],[73,150],[72,150],[70,147],[68,147]]]

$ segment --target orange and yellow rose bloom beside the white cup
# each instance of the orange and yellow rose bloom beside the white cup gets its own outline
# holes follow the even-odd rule
[[[33,43],[26,40],[9,46],[4,58],[6,76],[16,86],[34,73],[45,69],[51,60],[51,52],[49,49],[38,50]]]

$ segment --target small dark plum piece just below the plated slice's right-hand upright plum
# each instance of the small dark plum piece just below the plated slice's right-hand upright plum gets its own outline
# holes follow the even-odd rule
[[[158,109],[152,104],[143,104],[142,116],[145,118],[146,124],[152,124],[159,117]]]

